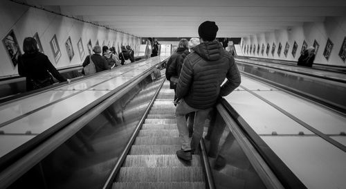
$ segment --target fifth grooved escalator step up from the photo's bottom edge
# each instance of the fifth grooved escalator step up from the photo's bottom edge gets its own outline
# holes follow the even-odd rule
[[[137,137],[134,145],[181,145],[179,137]]]

